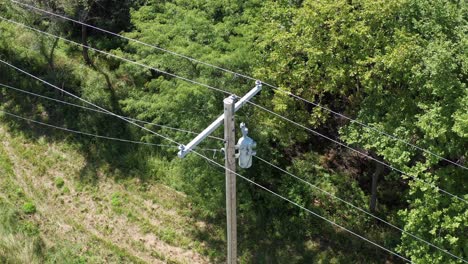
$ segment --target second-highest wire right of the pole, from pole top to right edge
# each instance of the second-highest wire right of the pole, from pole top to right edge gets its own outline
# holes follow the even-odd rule
[[[322,133],[319,133],[319,132],[317,132],[317,131],[315,131],[315,130],[313,130],[313,129],[311,129],[311,128],[308,128],[308,127],[306,127],[306,126],[304,126],[304,125],[302,125],[302,124],[300,124],[300,123],[298,123],[298,122],[296,122],[296,121],[293,121],[293,120],[291,120],[291,119],[289,119],[289,118],[287,118],[287,117],[284,117],[284,116],[282,116],[282,115],[280,115],[280,114],[278,114],[278,113],[276,113],[276,112],[273,112],[273,111],[271,111],[271,110],[268,109],[268,108],[265,108],[265,107],[263,107],[263,106],[261,106],[261,105],[255,104],[255,103],[253,103],[253,102],[251,102],[251,101],[248,101],[247,103],[249,103],[249,104],[251,104],[251,105],[253,105],[253,106],[257,107],[257,108],[260,108],[260,109],[262,109],[263,111],[268,112],[268,113],[270,113],[270,114],[272,114],[272,115],[274,115],[274,116],[276,116],[276,117],[279,117],[279,118],[281,118],[281,119],[283,119],[283,120],[285,120],[285,121],[287,121],[287,122],[289,122],[289,123],[291,123],[291,124],[294,124],[294,125],[296,125],[296,126],[298,126],[298,127],[301,127],[301,128],[303,128],[303,129],[305,129],[305,130],[307,130],[307,131],[309,131],[309,132],[312,132],[313,134],[315,134],[315,135],[317,135],[317,136],[320,136],[320,137],[323,137],[323,138],[325,138],[325,139],[328,139],[328,140],[330,140],[331,142],[333,142],[333,143],[335,143],[335,144],[337,144],[337,145],[339,145],[339,146],[345,147],[345,148],[347,148],[347,149],[349,149],[349,150],[351,150],[351,151],[353,151],[353,152],[356,152],[357,154],[359,154],[359,155],[361,155],[361,156],[363,156],[363,157],[366,157],[366,158],[368,158],[368,159],[371,159],[371,160],[373,160],[373,161],[375,161],[375,162],[377,162],[377,163],[379,163],[379,164],[381,164],[381,165],[383,165],[383,166],[385,166],[385,167],[387,167],[387,168],[389,168],[389,169],[391,169],[391,170],[393,170],[393,171],[397,171],[397,172],[399,172],[400,174],[402,174],[402,175],[404,175],[404,176],[407,176],[407,177],[409,177],[409,178],[411,178],[411,179],[413,179],[413,180],[415,180],[415,181],[419,181],[419,182],[421,182],[421,183],[425,183],[425,184],[431,186],[432,188],[434,188],[434,189],[437,190],[437,191],[441,191],[441,192],[443,192],[443,193],[445,193],[445,194],[447,194],[447,195],[449,195],[449,196],[451,196],[451,197],[453,197],[453,198],[456,198],[456,199],[458,199],[458,200],[460,200],[460,201],[462,201],[462,202],[468,203],[467,200],[465,200],[465,199],[463,199],[463,198],[461,198],[461,197],[459,197],[459,196],[457,196],[457,195],[455,195],[455,194],[452,194],[452,193],[450,193],[450,192],[448,192],[448,191],[446,191],[446,190],[444,190],[444,189],[442,189],[442,188],[439,188],[438,186],[434,185],[433,183],[429,183],[429,182],[426,182],[426,181],[421,180],[421,179],[419,179],[419,178],[416,178],[416,177],[414,177],[414,176],[411,176],[411,175],[407,174],[406,172],[404,172],[404,171],[402,171],[402,170],[400,170],[400,169],[397,169],[397,168],[393,167],[393,166],[390,165],[390,164],[387,164],[387,163],[385,163],[385,162],[383,162],[383,161],[380,161],[379,159],[376,159],[376,158],[374,158],[374,157],[372,157],[372,156],[370,156],[370,155],[368,155],[368,154],[366,154],[366,153],[363,153],[363,152],[361,152],[361,151],[359,151],[359,150],[357,150],[357,149],[355,149],[355,148],[353,148],[353,147],[350,147],[350,146],[348,146],[348,145],[346,145],[346,144],[344,144],[344,143],[342,143],[342,142],[340,142],[340,141],[338,141],[338,140],[335,140],[335,139],[333,139],[333,138],[330,138],[330,137],[328,137],[328,136],[326,136],[326,135],[324,135],[324,134],[322,134]]]

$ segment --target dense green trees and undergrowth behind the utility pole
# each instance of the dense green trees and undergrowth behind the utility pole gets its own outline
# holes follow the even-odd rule
[[[130,38],[254,75],[313,103],[466,164],[468,7],[463,1],[47,0],[37,4],[112,32],[123,32]],[[5,16],[41,30],[159,69],[143,69],[0,23],[2,59],[116,113],[201,131],[222,113],[221,102],[226,94],[163,72],[221,88],[227,94],[242,95],[253,86],[251,80],[150,46],[44,18],[11,4],[2,4],[0,9]],[[13,41],[15,45],[11,44]],[[0,65],[0,71],[0,82],[76,103],[4,65]],[[0,89],[0,94],[2,109],[36,120],[88,133],[168,143],[106,115],[24,97],[8,89]],[[419,178],[468,199],[463,169],[358,123],[345,122],[324,108],[273,92],[267,85],[256,100],[404,171],[407,176],[383,171],[376,214],[466,258],[465,203],[408,178]],[[367,210],[371,175],[376,169],[369,160],[248,105],[236,115],[236,121],[247,122],[251,136],[258,142],[260,157],[311,185],[303,185],[259,160],[255,160],[251,169],[239,173],[340,225],[366,234],[387,248],[398,250],[416,263],[456,263],[447,254],[377,224],[318,189]],[[121,178],[138,175],[143,182],[162,182],[187,194],[194,207],[192,214],[216,226],[219,233],[201,238],[212,248],[207,254],[212,261],[224,260],[222,170],[194,155],[178,160],[175,149],[108,144],[51,134],[46,129],[29,131],[29,125],[8,118],[2,117],[2,121],[8,122],[14,131],[24,131],[33,138],[47,137],[79,145],[90,164],[108,166],[107,174]],[[166,128],[147,127],[180,143],[193,137]],[[222,137],[222,132],[214,135]],[[214,140],[203,143],[203,147],[221,146],[221,142]],[[3,156],[0,155],[0,172],[11,173],[11,164]],[[224,162],[222,157],[213,158]],[[97,180],[98,176],[90,169],[93,165],[81,176],[82,182],[92,184]],[[65,181],[56,177],[54,184],[60,189]],[[20,193],[14,199],[23,199],[24,193]],[[62,194],[68,193],[67,181]],[[245,181],[238,182],[238,197],[239,251],[243,262],[397,261]],[[110,200],[113,209],[123,213],[123,205],[129,199],[115,192],[106,201]],[[35,210],[33,203],[23,207],[26,214]],[[135,218],[133,212],[127,215]],[[25,235],[34,233],[33,226],[24,230]],[[180,236],[172,229],[160,234],[172,242]]]

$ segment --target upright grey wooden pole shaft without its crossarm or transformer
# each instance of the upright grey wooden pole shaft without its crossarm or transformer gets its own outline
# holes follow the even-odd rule
[[[226,155],[227,263],[235,264],[237,262],[235,98],[230,96],[224,99],[223,102],[224,152]]]

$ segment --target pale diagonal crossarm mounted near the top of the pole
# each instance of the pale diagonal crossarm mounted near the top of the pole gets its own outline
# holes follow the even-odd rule
[[[244,106],[250,99],[262,90],[262,83],[260,81],[255,82],[255,87],[252,88],[247,94],[245,94],[234,106],[234,112],[237,112],[242,106]],[[198,136],[196,136],[187,145],[181,145],[177,156],[184,158],[190,151],[192,151],[198,144],[200,144],[205,138],[213,133],[221,124],[224,122],[224,114],[220,115],[211,125],[203,130]]]

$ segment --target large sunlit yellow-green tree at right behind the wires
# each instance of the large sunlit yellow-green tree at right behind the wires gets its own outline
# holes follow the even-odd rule
[[[261,41],[268,67],[258,71],[294,94],[463,164],[464,14],[466,5],[451,1],[304,1],[298,9],[277,4]],[[311,126],[339,123],[281,94],[272,105]],[[274,129],[286,135],[288,127]],[[462,169],[356,124],[340,134],[409,175],[466,199]],[[396,173],[386,178],[408,182]],[[409,193],[400,197],[409,204],[400,213],[405,230],[466,258],[466,226],[460,222],[466,220],[465,204],[425,184],[408,183]],[[402,236],[399,250],[420,263],[455,262],[408,236]]]

